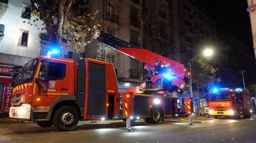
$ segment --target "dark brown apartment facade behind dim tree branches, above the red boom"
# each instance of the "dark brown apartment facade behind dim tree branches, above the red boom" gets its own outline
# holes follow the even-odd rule
[[[143,47],[180,61],[175,0],[143,1]]]

